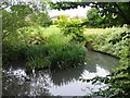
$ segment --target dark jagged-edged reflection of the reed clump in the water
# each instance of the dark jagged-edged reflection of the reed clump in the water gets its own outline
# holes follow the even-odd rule
[[[70,84],[74,81],[78,81],[83,73],[83,65],[73,68],[70,70],[57,70],[52,71],[51,81],[55,86],[63,86]]]

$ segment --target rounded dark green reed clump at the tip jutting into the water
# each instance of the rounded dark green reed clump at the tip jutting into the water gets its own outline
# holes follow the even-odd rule
[[[67,45],[52,52],[52,68],[76,66],[83,62],[86,49],[80,45]]]

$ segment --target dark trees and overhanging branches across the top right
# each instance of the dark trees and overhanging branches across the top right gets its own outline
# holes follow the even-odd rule
[[[92,27],[112,27],[130,25],[130,2],[50,2],[52,9],[76,9],[78,5],[92,9],[81,25]]]

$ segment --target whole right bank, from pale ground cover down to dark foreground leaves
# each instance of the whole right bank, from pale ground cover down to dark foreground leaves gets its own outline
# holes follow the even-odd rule
[[[120,58],[120,64],[108,76],[91,79],[95,84],[101,82],[109,85],[107,89],[99,90],[95,94],[106,98],[128,98],[130,96],[130,28],[92,30],[84,32],[86,47]]]

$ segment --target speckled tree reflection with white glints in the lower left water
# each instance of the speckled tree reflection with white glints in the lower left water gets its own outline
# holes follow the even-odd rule
[[[48,73],[42,71],[36,73],[34,77],[29,74],[30,79],[26,79],[27,75],[24,75],[25,70],[10,70],[3,73],[2,79],[2,93],[3,96],[49,96],[49,78]]]

